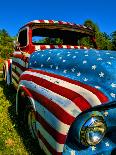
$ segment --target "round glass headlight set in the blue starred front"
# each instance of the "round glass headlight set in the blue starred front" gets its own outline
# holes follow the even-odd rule
[[[104,119],[101,116],[92,116],[81,128],[81,142],[85,146],[96,145],[103,139],[105,133]]]

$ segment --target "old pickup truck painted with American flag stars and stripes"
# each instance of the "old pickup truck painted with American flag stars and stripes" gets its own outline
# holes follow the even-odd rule
[[[4,62],[16,113],[47,155],[116,153],[116,52],[96,47],[89,27],[34,20]]]

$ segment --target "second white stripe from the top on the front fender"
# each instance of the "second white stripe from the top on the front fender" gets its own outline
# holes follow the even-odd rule
[[[21,80],[21,84],[24,84],[29,89],[34,90],[35,92],[44,95],[49,100],[52,100],[53,102],[55,102],[57,105],[59,105],[62,109],[64,109],[67,113],[69,113],[73,117],[78,116],[81,112],[78,106],[76,106],[75,103],[72,102],[71,100],[55,92],[52,92],[49,89],[39,86],[32,81],[28,82],[26,80]]]

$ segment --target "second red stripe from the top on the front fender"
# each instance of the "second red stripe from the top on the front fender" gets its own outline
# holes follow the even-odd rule
[[[85,111],[89,108],[91,108],[90,104],[85,100],[84,97],[82,97],[80,94],[67,89],[65,87],[56,85],[52,82],[49,82],[45,79],[36,77],[34,75],[29,75],[29,74],[24,74],[21,76],[20,80],[30,80],[33,81],[34,83],[47,88],[49,90],[51,90],[52,92],[55,92],[63,97],[66,97],[68,99],[70,99],[71,101],[73,101],[82,111]],[[57,81],[56,81],[57,82]]]

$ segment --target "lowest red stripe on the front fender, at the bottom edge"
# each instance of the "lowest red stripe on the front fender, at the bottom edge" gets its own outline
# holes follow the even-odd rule
[[[41,141],[44,143],[44,145],[49,150],[49,152],[51,152],[52,155],[62,155],[61,152],[57,152],[51,147],[51,145],[46,141],[46,139],[41,135],[40,132],[38,133],[38,137],[41,139]]]

